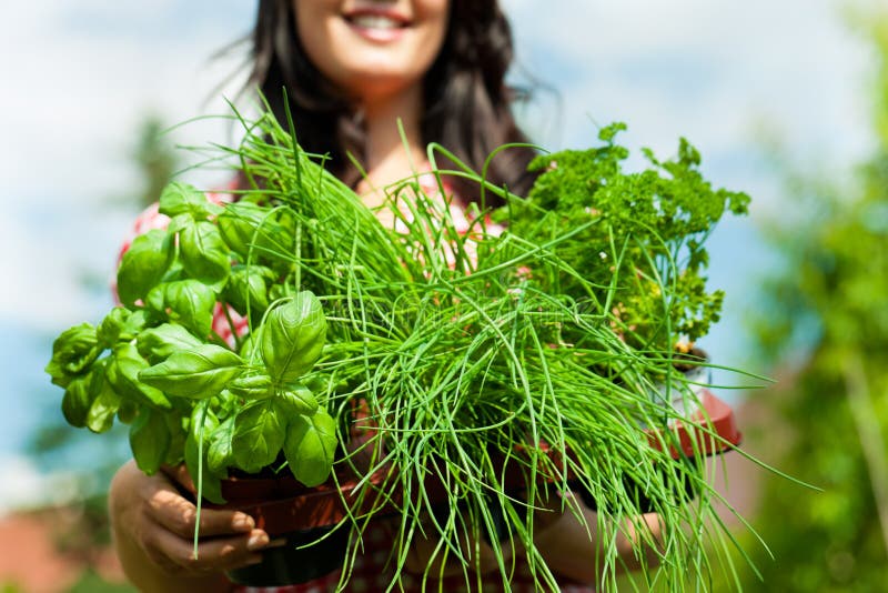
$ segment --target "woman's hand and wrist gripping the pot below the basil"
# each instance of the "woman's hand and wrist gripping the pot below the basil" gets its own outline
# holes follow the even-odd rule
[[[133,462],[111,483],[109,513],[123,572],[141,591],[224,592],[224,571],[262,560],[268,534],[244,513],[201,510],[201,543],[194,557],[196,507],[170,476],[145,475]]]

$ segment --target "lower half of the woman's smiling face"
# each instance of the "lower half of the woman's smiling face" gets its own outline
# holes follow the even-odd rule
[[[422,82],[447,31],[450,0],[293,0],[309,59],[357,101]]]

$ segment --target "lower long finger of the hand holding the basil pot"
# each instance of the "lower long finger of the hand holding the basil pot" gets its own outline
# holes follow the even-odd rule
[[[208,573],[261,562],[259,552],[268,544],[268,534],[254,530],[233,537],[203,540],[199,542],[195,554],[193,542],[159,526],[152,532],[149,553],[159,564],[174,565],[176,572]]]

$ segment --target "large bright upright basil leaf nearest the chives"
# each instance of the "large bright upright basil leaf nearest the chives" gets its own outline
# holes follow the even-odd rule
[[[303,291],[273,309],[262,324],[260,349],[269,374],[281,384],[295,383],[321,355],[326,319],[321,301]]]

